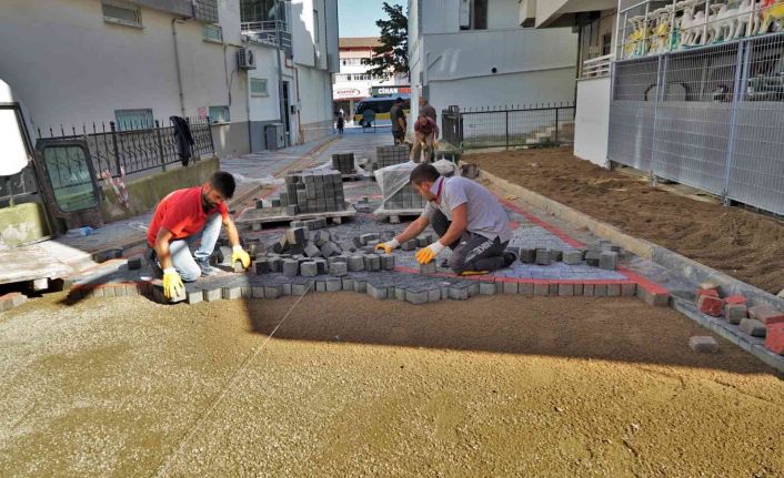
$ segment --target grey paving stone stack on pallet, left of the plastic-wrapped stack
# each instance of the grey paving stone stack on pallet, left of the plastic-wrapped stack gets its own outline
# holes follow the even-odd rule
[[[257,207],[263,207],[257,201]],[[271,200],[272,207],[287,207],[290,216],[296,214],[345,211],[343,176],[334,170],[293,171],[285,175],[285,191]]]

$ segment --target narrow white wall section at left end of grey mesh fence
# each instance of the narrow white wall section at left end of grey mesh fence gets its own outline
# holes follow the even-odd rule
[[[574,155],[600,166],[607,164],[610,78],[577,81]]]

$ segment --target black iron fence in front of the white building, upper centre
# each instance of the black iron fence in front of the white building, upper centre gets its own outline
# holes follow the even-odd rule
[[[574,142],[574,104],[461,110],[441,113],[442,138],[463,149],[521,148]]]

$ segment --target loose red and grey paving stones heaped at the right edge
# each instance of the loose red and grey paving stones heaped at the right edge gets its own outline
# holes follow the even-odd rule
[[[765,338],[765,348],[784,355],[784,312],[767,304],[750,307],[743,295],[722,297],[720,287],[705,283],[696,291],[697,309],[712,317],[722,317],[752,337]]]

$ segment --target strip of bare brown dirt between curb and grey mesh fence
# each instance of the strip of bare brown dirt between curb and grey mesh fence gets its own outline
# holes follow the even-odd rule
[[[655,189],[577,160],[567,149],[471,154],[464,161],[777,294],[784,289],[784,222]]]

